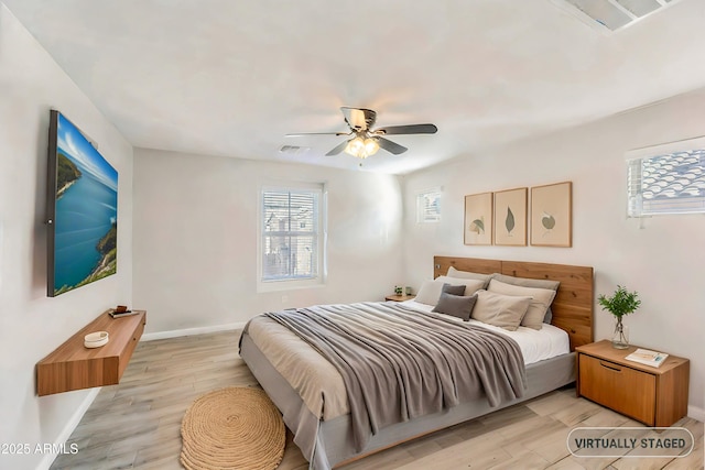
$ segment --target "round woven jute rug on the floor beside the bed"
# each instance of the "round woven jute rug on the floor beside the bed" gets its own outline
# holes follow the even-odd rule
[[[188,470],[275,469],[286,441],[284,420],[269,396],[241,386],[196,398],[181,436],[181,463]]]

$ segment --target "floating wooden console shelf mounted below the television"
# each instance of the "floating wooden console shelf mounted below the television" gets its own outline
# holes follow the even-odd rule
[[[144,331],[147,311],[122,318],[112,318],[108,311],[36,363],[36,393],[40,396],[113,385],[120,381]],[[108,343],[86,348],[84,337],[94,331],[108,331]]]

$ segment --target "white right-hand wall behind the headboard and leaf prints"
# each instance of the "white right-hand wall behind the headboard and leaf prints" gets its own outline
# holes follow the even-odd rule
[[[638,313],[626,317],[631,342],[691,359],[690,414],[705,418],[705,216],[626,218],[625,152],[705,134],[705,90],[589,125],[456,159],[404,181],[404,262],[419,286],[433,275],[434,254],[589,265],[595,298],[617,284],[636,289]],[[573,182],[573,248],[468,247],[464,196]],[[443,186],[443,220],[416,225],[416,193]],[[612,318],[595,306],[596,339],[611,337]]]

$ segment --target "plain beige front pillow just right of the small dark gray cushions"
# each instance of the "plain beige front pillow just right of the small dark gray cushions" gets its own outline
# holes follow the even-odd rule
[[[514,331],[524,317],[531,297],[502,295],[496,292],[478,291],[471,318]]]

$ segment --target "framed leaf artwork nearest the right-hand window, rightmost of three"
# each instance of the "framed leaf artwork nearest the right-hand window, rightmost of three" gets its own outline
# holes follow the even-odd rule
[[[531,188],[531,244],[573,245],[573,183]]]

